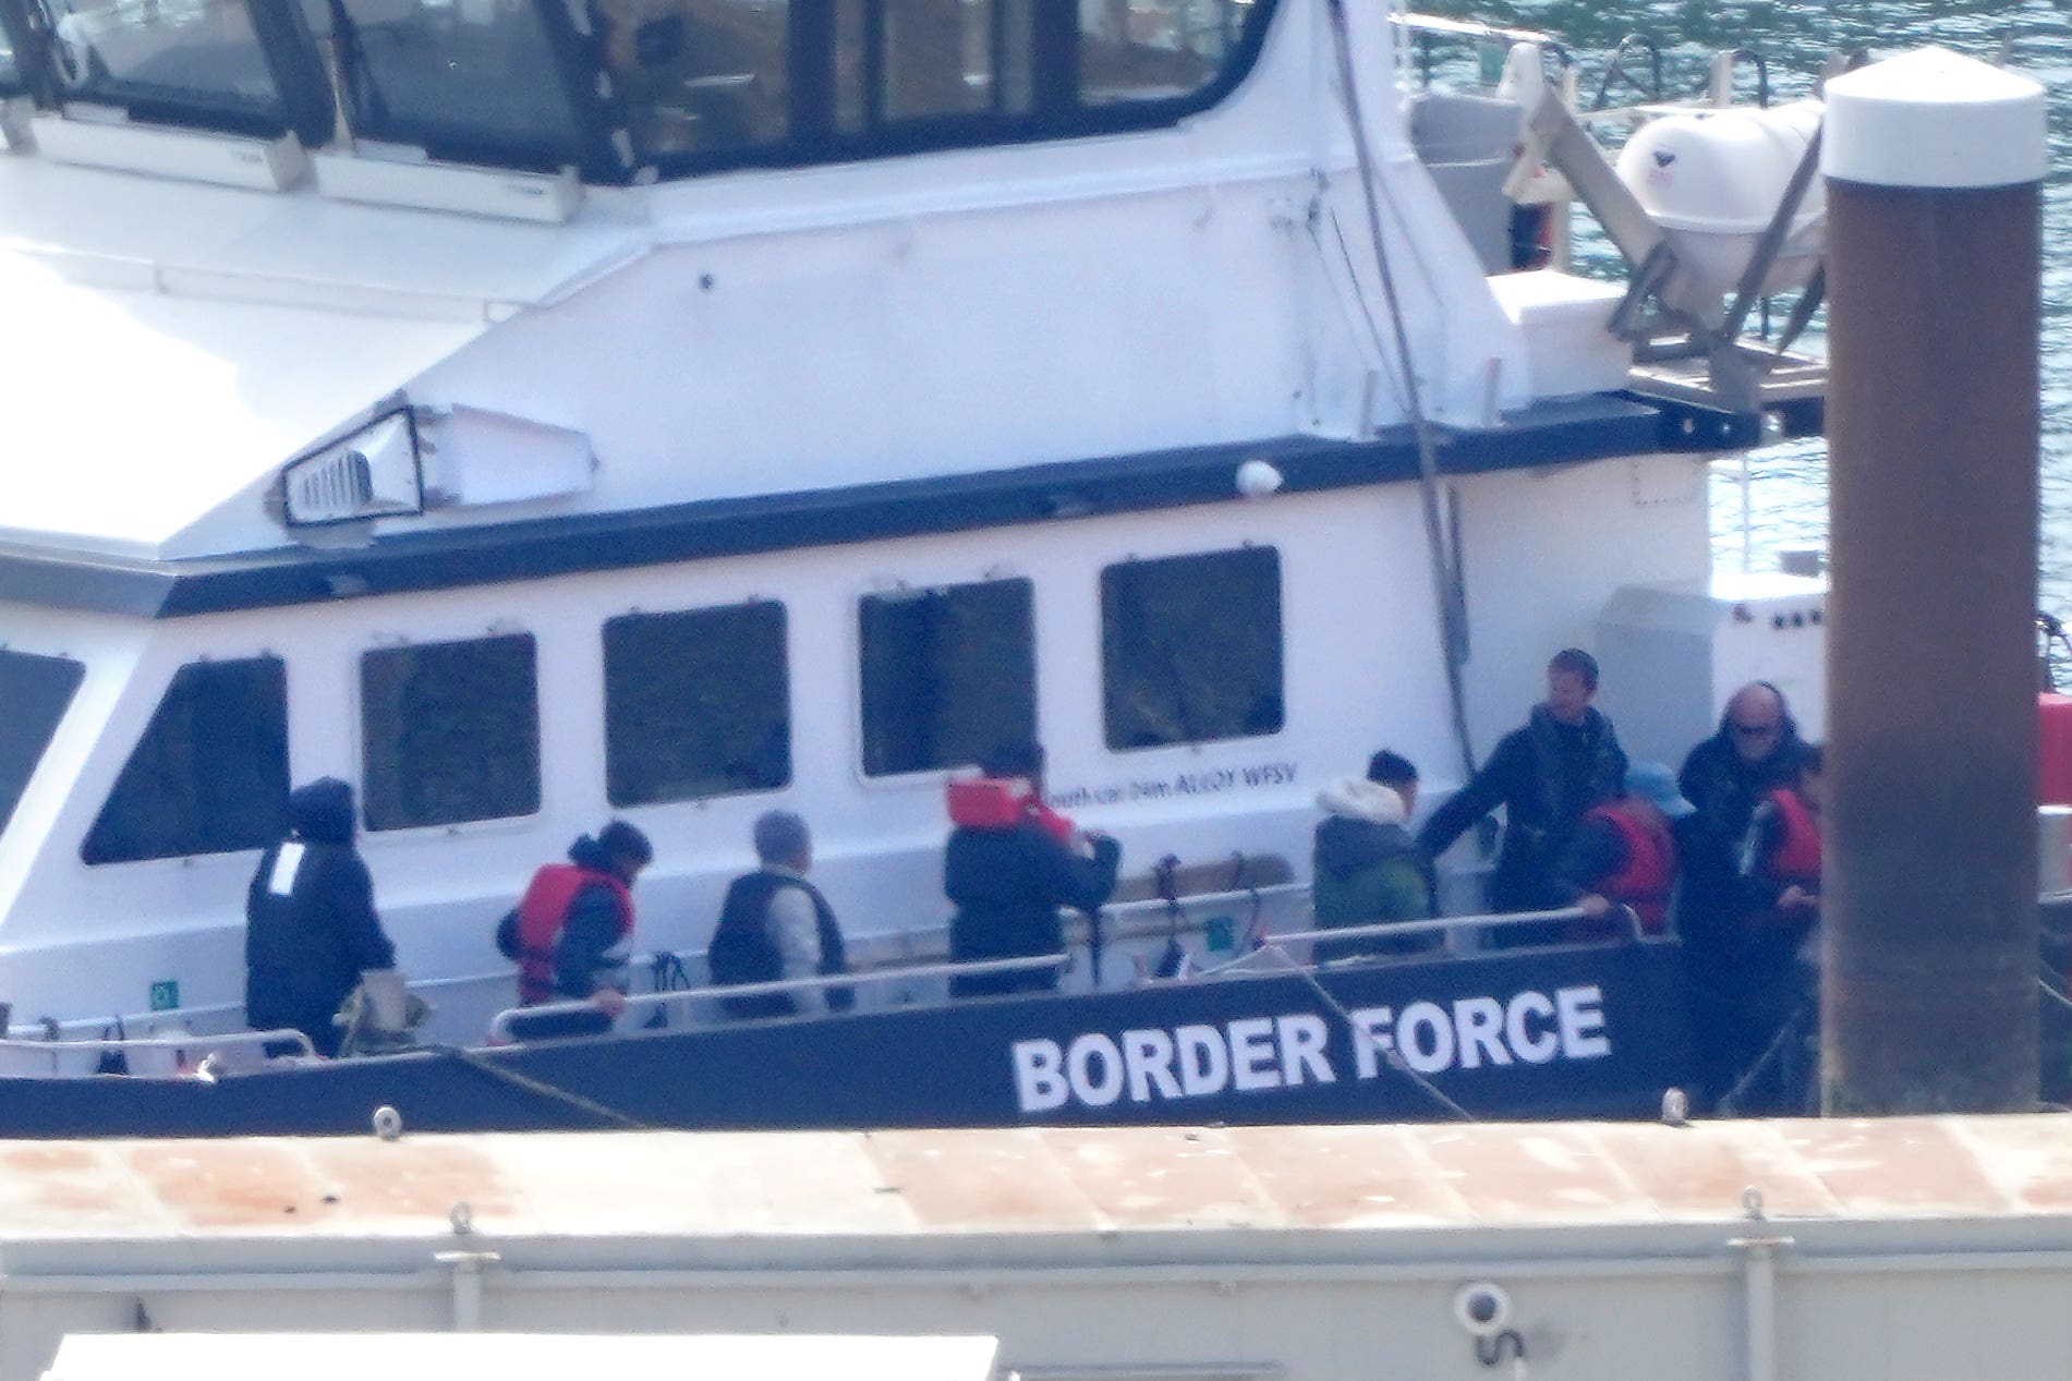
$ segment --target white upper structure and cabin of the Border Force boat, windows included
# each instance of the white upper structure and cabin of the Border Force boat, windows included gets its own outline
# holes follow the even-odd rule
[[[0,15],[25,1080],[242,1028],[290,782],[358,786],[429,1035],[479,1043],[497,917],[613,815],[667,987],[800,811],[856,966],[924,968],[864,1020],[941,995],[992,742],[1138,877],[1090,995],[1301,931],[1316,788],[1384,744],[1457,784],[1556,647],[1637,755],[1743,674],[1817,697],[1817,583],[1716,585],[1707,504],[1817,371],[1709,390],[1620,284],[1510,272],[1533,106],[1413,106],[1382,6]]]

